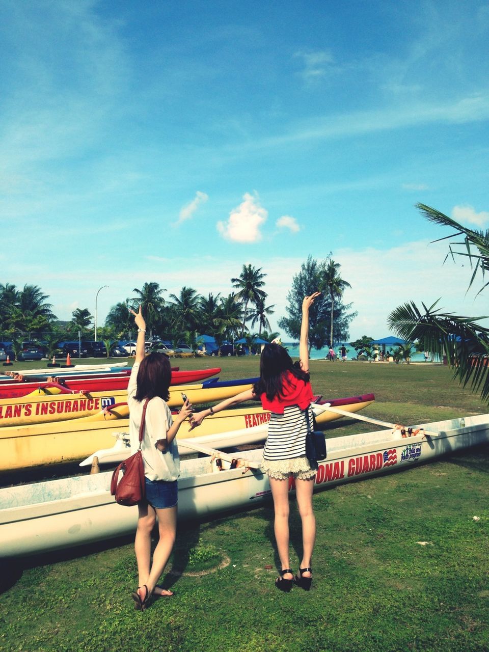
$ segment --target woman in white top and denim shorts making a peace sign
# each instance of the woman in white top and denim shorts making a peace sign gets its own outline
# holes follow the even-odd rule
[[[139,447],[140,425],[144,418],[144,436],[141,451],[145,471],[145,500],[139,503],[138,529],[134,540],[138,562],[139,586],[132,592],[136,609],[144,610],[152,595],[171,597],[172,591],[158,586],[177,531],[177,479],[180,462],[175,436],[181,423],[192,413],[185,402],[178,415],[171,417],[166,404],[170,394],[171,366],[168,355],[145,355],[146,323],[141,314],[130,310],[138,327],[136,359],[128,384],[129,433],[131,452]],[[145,408],[145,410],[144,410]],[[151,562],[151,531],[158,519],[158,544]]]

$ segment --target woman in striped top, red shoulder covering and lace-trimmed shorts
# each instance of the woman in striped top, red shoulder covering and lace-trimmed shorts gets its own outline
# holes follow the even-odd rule
[[[263,470],[268,474],[274,504],[274,533],[280,577],[275,585],[290,591],[293,582],[308,591],[312,582],[311,559],[316,540],[316,518],[312,510],[312,490],[316,470],[306,458],[306,432],[312,424],[313,398],[309,381],[309,308],[319,292],[304,297],[302,308],[299,362],[293,363],[287,351],[278,344],[266,344],[261,353],[260,378],[248,391],[218,403],[191,417],[193,426],[203,419],[243,401],[259,398],[263,409],[271,411],[267,441],[263,448]],[[295,494],[302,521],[303,556],[299,572],[293,576],[289,563],[289,476],[295,478]]]

